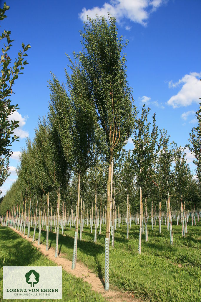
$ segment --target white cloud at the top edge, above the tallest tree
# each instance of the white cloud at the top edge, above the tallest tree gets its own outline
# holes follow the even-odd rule
[[[91,9],[82,9],[79,14],[79,18],[82,21],[87,21],[86,16],[96,18],[96,14],[99,16],[107,16],[108,12],[112,16],[116,17],[118,22],[126,18],[132,22],[140,23],[146,26],[149,14],[155,11],[164,0],[110,0],[105,2],[102,7],[94,6]]]

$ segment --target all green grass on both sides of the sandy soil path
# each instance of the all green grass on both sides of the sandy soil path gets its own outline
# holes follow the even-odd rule
[[[149,221],[150,222],[150,221]],[[150,224],[150,225],[149,225]],[[201,295],[201,224],[191,226],[187,223],[188,233],[183,238],[181,226],[173,220],[174,246],[169,244],[169,231],[162,224],[159,233],[159,223],[151,227],[148,224],[148,241],[145,241],[145,232],[142,235],[141,255],[137,252],[139,242],[139,230],[132,221],[129,229],[130,239],[126,240],[127,225],[120,224],[115,230],[115,249],[110,254],[110,282],[122,291],[130,292],[134,297],[145,301],[200,301]],[[105,227],[102,226],[104,234]],[[25,228],[27,234],[28,228]],[[56,246],[55,229],[49,232],[49,245]],[[30,237],[33,237],[34,229],[30,228]],[[64,234],[59,230],[59,253],[61,257],[72,260],[74,230],[66,226]],[[35,235],[38,240],[38,234]],[[46,231],[41,231],[41,244],[46,246]],[[15,246],[18,248],[15,248]],[[12,232],[8,227],[1,227],[1,267],[3,265],[55,265],[46,259],[30,243]],[[105,275],[105,249],[104,235],[97,235],[94,243],[94,234],[90,233],[90,226],[84,226],[82,240],[77,243],[77,261],[86,265],[90,271],[96,273],[99,278]],[[20,255],[20,257],[19,257]],[[29,255],[27,257],[26,255]],[[20,260],[18,260],[20,259]],[[18,262],[19,261],[19,262]],[[24,263],[24,264],[23,264]],[[79,290],[83,282],[75,277],[70,277],[64,272],[63,282],[68,291],[74,282],[76,288],[71,291],[72,297],[64,301],[104,301],[99,294],[90,291],[90,286],[84,282],[83,292]],[[2,274],[2,273],[1,273]],[[2,279],[2,275],[1,275]],[[65,280],[65,281],[64,281]],[[82,294],[81,294],[82,293]],[[74,300],[73,300],[74,299]]]

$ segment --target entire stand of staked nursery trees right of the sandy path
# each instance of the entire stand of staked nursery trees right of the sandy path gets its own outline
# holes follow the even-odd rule
[[[143,106],[139,111],[134,105],[123,53],[127,42],[118,37],[115,18],[109,15],[108,20],[88,18],[84,23],[83,50],[73,53],[73,58],[68,56],[67,88],[52,74],[48,117],[39,120],[33,140],[27,140],[20,155],[18,178],[0,204],[0,214],[7,215],[7,220],[13,207],[16,211],[19,205],[24,211],[24,230],[27,217],[30,223],[31,208],[36,218],[38,211],[39,243],[42,212],[44,217],[46,211],[47,248],[49,217],[53,212],[57,223],[55,256],[59,217],[64,221],[66,209],[74,212],[72,269],[76,267],[78,226],[84,210],[87,218],[91,211],[91,226],[95,217],[96,242],[97,218],[102,222],[105,208],[105,290],[109,288],[109,238],[111,230],[114,246],[117,207],[118,217],[119,213],[126,216],[127,239],[129,217],[139,215],[139,252],[143,216],[146,221],[149,212],[153,217],[153,206],[160,217],[161,210],[166,212],[173,245],[171,211],[183,207],[183,203],[188,210],[197,209],[201,183],[200,110],[196,113],[199,126],[190,134],[189,148],[197,164],[197,179],[193,179],[184,149],[170,141],[167,131],[159,130],[155,114],[149,116],[150,108]],[[130,137],[134,146],[126,151],[124,146]],[[36,223],[37,219],[35,230]]]

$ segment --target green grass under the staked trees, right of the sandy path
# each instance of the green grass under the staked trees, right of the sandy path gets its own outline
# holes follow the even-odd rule
[[[142,253],[138,254],[139,226],[134,223],[129,228],[126,240],[126,225],[115,231],[115,250],[110,247],[110,284],[130,291],[138,297],[150,301],[201,301],[201,223],[187,225],[188,234],[182,238],[181,224],[173,221],[174,246],[170,246],[167,226],[159,225],[151,230],[148,226],[148,242],[142,235]],[[33,235],[33,229],[30,231]],[[79,238],[79,235],[78,235]],[[35,239],[38,239],[36,232]],[[90,227],[84,227],[82,241],[78,239],[77,260],[96,272],[105,275],[105,228],[102,235],[97,228],[97,243]],[[46,232],[41,231],[41,242],[46,244]],[[49,245],[55,248],[56,234],[49,233]],[[72,260],[74,227],[66,227],[64,236],[59,235],[59,252]]]

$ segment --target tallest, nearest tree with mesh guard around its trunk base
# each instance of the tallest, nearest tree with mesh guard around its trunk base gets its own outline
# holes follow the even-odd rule
[[[90,81],[105,148],[102,154],[108,164],[107,220],[105,234],[105,290],[109,289],[109,234],[111,208],[111,167],[115,153],[122,149],[130,136],[132,102],[127,83],[127,42],[118,37],[115,18],[89,18],[84,23],[83,51],[80,60]]]

